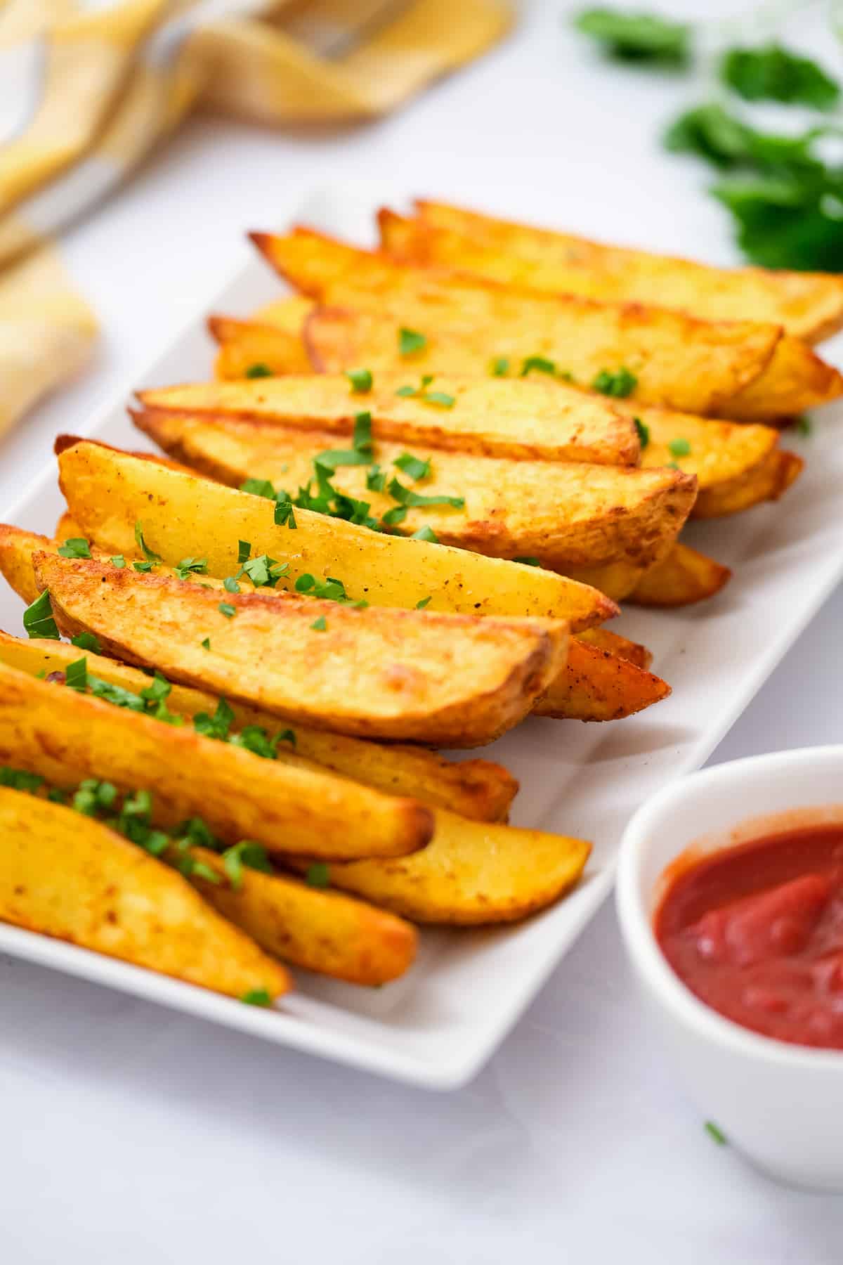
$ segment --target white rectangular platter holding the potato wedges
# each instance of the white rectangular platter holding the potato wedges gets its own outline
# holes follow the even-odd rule
[[[394,188],[336,187],[296,219],[363,244]],[[255,259],[221,290],[216,311],[246,314],[277,297]],[[133,387],[210,377],[207,312]],[[838,340],[837,361],[840,359]],[[835,348],[823,349],[835,359]],[[124,448],[147,441],[129,424],[129,390],[86,428]],[[734,568],[709,603],[677,612],[629,610],[618,631],[645,641],[672,686],[666,702],[609,725],[533,719],[483,754],[521,781],[513,820],[594,841],[584,880],[555,908],[500,930],[425,931],[418,960],[394,984],[354,988],[298,973],[297,989],[263,1011],[139,968],[0,925],[0,951],[54,966],[281,1045],[308,1050],[430,1088],[469,1080],[494,1051],[610,889],[623,826],[648,794],[698,768],[843,577],[843,411],[827,410],[814,434],[792,440],[808,468],[779,506],[696,525],[690,543]],[[791,445],[787,436],[786,443]],[[52,531],[62,510],[54,462],[4,521]],[[21,603],[0,591],[0,627],[21,631]]]

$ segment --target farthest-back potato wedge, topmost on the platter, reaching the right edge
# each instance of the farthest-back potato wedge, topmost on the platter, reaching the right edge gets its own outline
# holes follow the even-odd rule
[[[495,254],[500,263],[494,275],[509,283],[679,307],[704,320],[772,321],[806,343],[818,343],[843,328],[843,280],[830,273],[715,268],[513,224],[442,202],[421,200],[416,207],[420,220],[411,221],[412,229],[407,220],[387,214],[380,231],[387,249],[418,263],[439,262],[492,275],[485,269],[494,267],[489,256]],[[431,230],[437,230],[432,240]]]

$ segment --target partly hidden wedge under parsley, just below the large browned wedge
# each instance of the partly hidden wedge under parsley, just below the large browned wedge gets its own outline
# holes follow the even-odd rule
[[[35,541],[42,539],[35,538]],[[0,560],[1,558],[0,545]],[[614,638],[610,644],[617,645],[622,641],[623,638]],[[52,672],[64,672],[81,653],[66,641],[38,639],[21,641],[9,636],[8,632],[0,632],[0,663],[28,672],[33,677],[40,673],[49,676]],[[149,684],[149,678],[139,668],[91,651],[85,654],[88,673],[101,681],[130,689],[133,693],[140,693]],[[167,698],[169,710],[187,719],[192,719],[197,712],[214,715],[216,703],[215,694],[178,684],[172,686]],[[278,727],[278,719],[259,707],[238,702],[230,706],[234,711],[235,732],[246,725],[258,725],[268,732]],[[518,791],[516,778],[503,765],[492,760],[446,760],[435,751],[420,746],[364,743],[356,737],[326,734],[305,725],[297,725],[294,735],[294,750],[288,749],[286,743],[277,750],[276,759],[284,764],[312,768],[321,765],[385,794],[422,799],[425,803],[450,808],[463,817],[478,821],[506,818]]]

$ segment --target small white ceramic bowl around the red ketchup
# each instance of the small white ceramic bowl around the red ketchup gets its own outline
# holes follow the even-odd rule
[[[753,1164],[792,1185],[843,1192],[843,1051],[760,1036],[700,1002],[652,932],[666,865],[776,830],[843,822],[843,746],[718,764],[648,799],[627,826],[617,906],[645,994],[689,1094]]]

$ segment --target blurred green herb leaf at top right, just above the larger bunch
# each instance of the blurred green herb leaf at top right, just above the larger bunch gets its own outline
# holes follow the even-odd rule
[[[731,48],[720,62],[720,78],[744,101],[782,101],[830,110],[840,89],[816,62],[781,44]]]

